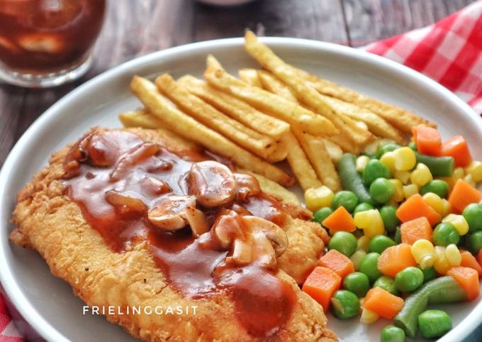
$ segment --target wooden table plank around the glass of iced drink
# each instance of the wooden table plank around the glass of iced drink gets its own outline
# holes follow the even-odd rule
[[[189,43],[192,9],[191,0],[111,0],[93,65],[82,79],[53,89],[0,87],[0,165],[26,128],[82,82],[138,55]]]

